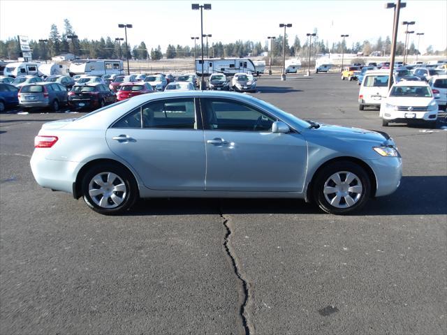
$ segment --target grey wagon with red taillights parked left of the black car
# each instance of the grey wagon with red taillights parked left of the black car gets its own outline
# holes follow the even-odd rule
[[[19,104],[23,110],[34,107],[51,107],[57,112],[59,107],[67,104],[68,91],[57,82],[36,82],[22,86],[19,91]]]

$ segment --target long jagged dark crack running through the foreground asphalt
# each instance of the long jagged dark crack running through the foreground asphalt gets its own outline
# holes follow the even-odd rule
[[[230,218],[226,218],[223,215],[222,208],[220,209],[220,216],[221,216],[221,218],[223,218],[223,226],[226,228],[226,235],[225,235],[225,239],[223,242],[223,247],[225,248],[225,251],[226,251],[228,257],[231,260],[231,264],[233,265],[233,269],[235,271],[237,278],[242,282],[242,290],[244,292],[244,297],[243,297],[243,303],[240,306],[239,314],[240,314],[240,317],[242,318],[242,326],[244,327],[244,334],[245,335],[254,334],[254,327],[251,324],[251,322],[249,321],[249,317],[248,317],[249,313],[247,311],[249,306],[251,306],[251,295],[249,292],[249,283],[241,274],[240,261],[237,260],[235,251],[230,244],[230,235],[233,232],[231,220],[230,220]]]

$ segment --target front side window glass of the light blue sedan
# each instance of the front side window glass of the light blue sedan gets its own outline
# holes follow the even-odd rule
[[[238,101],[203,99],[205,128],[216,131],[272,131],[277,119]]]

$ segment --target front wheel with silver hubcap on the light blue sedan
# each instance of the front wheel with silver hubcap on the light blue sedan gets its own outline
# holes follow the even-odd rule
[[[347,179],[350,182],[344,184]],[[323,167],[316,175],[312,189],[314,200],[323,211],[338,215],[351,214],[367,202],[371,181],[360,165],[340,161]]]

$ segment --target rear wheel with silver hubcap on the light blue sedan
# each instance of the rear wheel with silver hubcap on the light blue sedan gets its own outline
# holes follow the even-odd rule
[[[132,207],[138,198],[138,186],[133,175],[121,166],[98,164],[82,178],[82,196],[97,213],[115,215]]]

